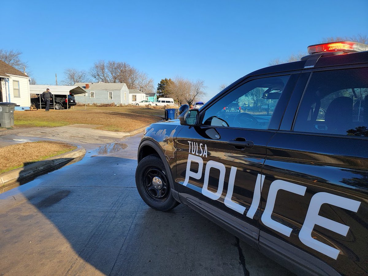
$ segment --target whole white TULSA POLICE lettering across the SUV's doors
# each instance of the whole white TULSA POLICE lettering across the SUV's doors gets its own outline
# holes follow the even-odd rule
[[[199,145],[199,150],[201,151],[200,153],[198,153],[199,155],[202,154],[201,145],[202,144]],[[190,147],[192,151],[193,149],[195,149],[194,152],[197,153],[198,144],[194,144],[194,143],[190,144]],[[206,145],[205,145],[205,151],[206,151]],[[204,153],[205,151],[203,151],[202,156],[205,156],[205,153]],[[190,170],[192,162],[198,163],[197,173]],[[181,182],[181,184],[193,189],[193,187],[191,187],[192,185],[188,185],[190,177],[197,179],[197,180],[201,179],[202,172],[203,172],[203,166],[204,166],[204,162],[201,156],[189,154],[188,161],[187,161],[187,168],[185,172],[185,180],[184,182]],[[217,169],[220,171],[219,180],[218,180],[218,188],[216,192],[208,190],[211,169]],[[237,168],[232,166],[230,169],[229,185],[228,185],[226,196],[224,199],[224,204],[228,208],[235,210],[238,213],[244,214],[247,208],[245,208],[244,206],[232,200],[236,172],[237,172]],[[225,174],[226,174],[226,167],[224,164],[213,161],[213,160],[209,160],[205,168],[204,184],[203,184],[203,187],[201,188],[202,194],[210,199],[218,200],[221,197],[222,192],[223,192]],[[259,207],[259,202],[261,201],[261,191],[262,191],[264,180],[265,180],[265,176],[258,174],[256,182],[255,182],[252,203],[246,215],[250,219],[254,218],[254,215]],[[279,223],[273,220],[271,217],[273,209],[275,208],[277,192],[279,190],[285,190],[293,194],[304,196],[305,191],[307,190],[307,187],[298,185],[298,184],[294,184],[294,183],[290,183],[284,180],[275,180],[270,185],[268,197],[266,200],[266,206],[261,216],[261,221],[266,227],[269,227],[270,229],[276,230],[279,233],[287,237],[290,237],[292,229],[282,223]],[[344,208],[344,209],[347,209],[353,212],[357,212],[361,202],[355,201],[353,199],[348,199],[348,198],[340,197],[337,195],[333,195],[328,192],[319,192],[312,197],[311,202],[309,203],[307,215],[305,217],[304,223],[299,233],[299,239],[303,244],[307,245],[308,247],[313,248],[314,250],[321,252],[322,254],[325,254],[333,259],[337,259],[337,256],[339,255],[340,250],[334,247],[331,247],[327,244],[324,244],[318,240],[315,240],[311,236],[315,225],[322,226],[326,229],[334,231],[343,236],[346,236],[348,233],[349,226],[318,215],[319,209],[321,208],[321,205],[324,203],[334,205],[340,208]],[[281,214],[281,215],[285,215],[285,214]]]

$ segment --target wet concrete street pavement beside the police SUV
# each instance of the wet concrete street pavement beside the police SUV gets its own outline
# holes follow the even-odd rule
[[[0,194],[0,275],[292,275],[183,204],[149,208],[135,187],[140,139],[90,145]]]

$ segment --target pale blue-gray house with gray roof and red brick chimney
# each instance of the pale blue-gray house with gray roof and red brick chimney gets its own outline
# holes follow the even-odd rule
[[[77,103],[84,103],[85,101],[87,104],[91,105],[93,105],[93,103],[96,103],[98,105],[102,103],[114,103],[115,105],[129,104],[129,89],[126,84],[106,82],[78,82],[74,85],[80,86],[86,91],[86,96],[84,96],[83,94],[75,95],[75,101]]]

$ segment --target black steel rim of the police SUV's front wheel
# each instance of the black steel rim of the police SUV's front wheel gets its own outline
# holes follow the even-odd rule
[[[150,166],[144,170],[142,186],[145,194],[155,202],[164,202],[169,197],[169,181],[166,174],[158,167]]]

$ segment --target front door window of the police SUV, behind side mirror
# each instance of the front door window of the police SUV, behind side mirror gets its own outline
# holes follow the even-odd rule
[[[289,77],[287,75],[246,82],[209,107],[202,123],[267,129]]]

